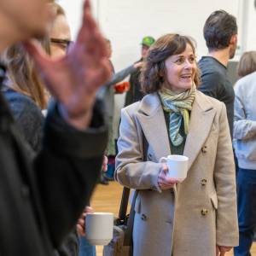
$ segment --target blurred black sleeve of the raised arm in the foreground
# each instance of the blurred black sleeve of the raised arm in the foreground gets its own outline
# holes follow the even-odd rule
[[[53,104],[44,127],[43,149],[34,161],[39,196],[55,247],[73,229],[88,204],[102,166],[108,130],[95,109],[90,127],[77,131]]]

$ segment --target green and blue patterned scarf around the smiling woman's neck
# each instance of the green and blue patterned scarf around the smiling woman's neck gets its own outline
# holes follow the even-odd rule
[[[195,84],[190,90],[180,94],[175,94],[172,90],[161,89],[158,93],[164,111],[170,113],[169,136],[174,146],[183,143],[184,138],[180,135],[182,121],[184,122],[184,131],[189,132],[189,111],[192,109],[192,103],[195,100]]]

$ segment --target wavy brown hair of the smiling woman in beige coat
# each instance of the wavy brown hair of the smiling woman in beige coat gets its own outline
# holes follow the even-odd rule
[[[161,89],[166,77],[165,61],[172,55],[183,53],[189,44],[195,54],[195,43],[192,38],[179,34],[166,34],[160,37],[148,50],[141,73],[141,86],[145,94]],[[200,84],[200,70],[195,72],[195,85]]]

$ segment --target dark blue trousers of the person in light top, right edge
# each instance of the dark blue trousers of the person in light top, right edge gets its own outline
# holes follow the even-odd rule
[[[239,168],[237,192],[239,246],[235,247],[234,253],[235,256],[251,256],[256,228],[256,170]]]

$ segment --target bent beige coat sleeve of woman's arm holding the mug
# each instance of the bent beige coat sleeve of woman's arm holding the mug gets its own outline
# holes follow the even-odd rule
[[[143,160],[143,134],[125,108],[121,113],[115,179],[131,189],[159,190],[161,164]]]

